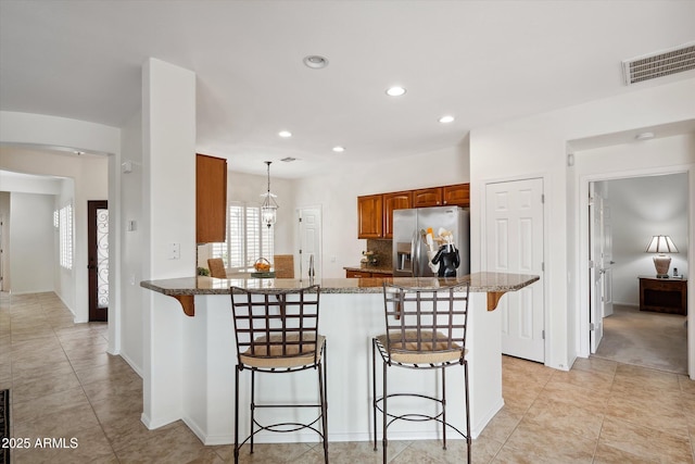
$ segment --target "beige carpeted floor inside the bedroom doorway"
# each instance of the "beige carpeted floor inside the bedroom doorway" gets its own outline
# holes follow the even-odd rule
[[[604,338],[594,356],[687,374],[685,316],[616,304],[604,318]]]

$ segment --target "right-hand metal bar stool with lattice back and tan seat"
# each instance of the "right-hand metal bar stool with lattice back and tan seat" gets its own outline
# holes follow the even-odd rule
[[[443,449],[446,449],[446,429],[451,427],[466,439],[467,457],[471,460],[470,401],[468,394],[468,361],[466,360],[466,328],[468,321],[469,286],[460,283],[439,288],[404,287],[383,284],[387,333],[372,339],[372,411],[374,449],[377,450],[377,411],[381,412],[383,462],[387,462],[387,428],[395,421],[437,421],[442,424]],[[382,360],[382,391],[377,397],[377,353]],[[464,367],[466,396],[466,431],[446,422],[446,368]],[[441,398],[420,393],[389,392],[389,367],[410,369],[440,369]],[[441,410],[433,415],[418,412],[394,414],[388,412],[388,400],[410,397],[435,402]]]

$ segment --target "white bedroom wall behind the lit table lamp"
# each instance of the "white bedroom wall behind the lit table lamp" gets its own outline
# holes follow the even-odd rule
[[[656,147],[655,147],[656,148]],[[659,150],[660,151],[660,150]],[[671,268],[687,276],[687,176],[670,174],[605,180],[612,229],[612,301],[637,306],[637,276],[656,274],[654,256],[645,253],[653,235],[668,235],[679,253]]]

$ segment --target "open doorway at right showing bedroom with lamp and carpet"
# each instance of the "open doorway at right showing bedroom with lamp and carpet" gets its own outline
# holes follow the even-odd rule
[[[640,278],[656,274],[654,254],[645,252],[654,235],[669,235],[677,243],[679,253],[670,255],[669,274],[672,276],[678,269],[679,276],[684,274],[683,278],[687,278],[687,174],[595,180],[589,183],[589,191],[591,354],[687,373],[686,317],[641,311],[639,284]],[[608,202],[609,212],[599,213],[602,204]],[[610,227],[605,228],[604,216]],[[602,247],[604,239],[608,240],[606,248]],[[610,269],[612,278],[605,269]],[[615,314],[607,311],[607,303],[615,304]]]

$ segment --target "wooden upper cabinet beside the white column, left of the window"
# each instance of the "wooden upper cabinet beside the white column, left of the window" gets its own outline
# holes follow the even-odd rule
[[[195,241],[226,240],[227,160],[195,155]]]

